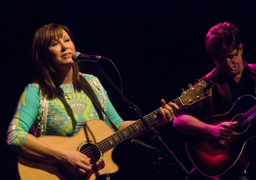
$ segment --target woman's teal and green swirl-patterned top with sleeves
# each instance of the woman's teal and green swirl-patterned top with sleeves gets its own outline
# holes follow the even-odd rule
[[[92,86],[106,114],[118,127],[123,120],[114,109],[99,80],[93,75],[82,75]],[[49,100],[48,110],[46,110],[46,130],[44,131],[46,131],[46,135],[74,136],[84,123],[91,119],[99,119],[99,116],[91,99],[83,91],[75,91],[72,84],[61,85],[60,88],[64,92],[62,98]],[[63,101],[63,99],[65,100]],[[29,84],[20,96],[8,128],[7,144],[10,148],[19,152],[29,132],[36,137],[40,136],[38,123],[41,120],[37,118],[41,108],[40,102],[38,85]],[[108,118],[104,117],[104,121],[110,125]]]

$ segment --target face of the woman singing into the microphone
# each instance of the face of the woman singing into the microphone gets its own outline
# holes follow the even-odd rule
[[[75,53],[75,45],[71,41],[68,33],[64,30],[62,31],[62,37],[54,39],[49,47],[50,58],[54,69],[71,67],[74,63],[72,54]]]

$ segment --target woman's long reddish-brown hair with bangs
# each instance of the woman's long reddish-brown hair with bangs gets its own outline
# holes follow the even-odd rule
[[[50,62],[49,47],[51,42],[61,38],[63,31],[66,31],[74,43],[74,37],[70,30],[63,24],[51,23],[44,25],[35,32],[32,44],[32,63],[35,66],[35,81],[39,84],[43,95],[49,99],[59,97],[61,90],[57,82],[54,81],[55,71]],[[79,80],[79,66],[73,63],[73,85],[78,91],[81,90],[82,82]]]

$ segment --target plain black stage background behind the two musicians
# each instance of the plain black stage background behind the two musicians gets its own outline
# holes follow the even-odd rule
[[[178,98],[182,91],[211,71],[215,64],[205,48],[205,35],[214,25],[228,21],[242,37],[243,59],[254,63],[256,40],[254,1],[5,1],[0,5],[1,179],[15,179],[17,154],[5,143],[7,126],[25,86],[30,83],[31,43],[42,25],[62,23],[75,37],[76,50],[113,61],[121,74],[123,94],[147,115],[160,107],[160,99]],[[94,64],[81,70],[98,76],[124,120],[138,118],[128,111],[119,94]],[[120,87],[110,63],[102,67]],[[172,124],[159,128],[163,140],[190,171],[185,136]],[[138,139],[157,146],[146,133]],[[113,152],[119,171],[111,179],[157,179],[155,156],[123,143]],[[169,161],[167,161],[169,162]],[[161,179],[185,179],[175,166],[165,165]]]

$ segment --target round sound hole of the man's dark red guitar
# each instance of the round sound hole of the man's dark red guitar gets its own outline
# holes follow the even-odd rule
[[[248,127],[250,126],[250,121],[246,122],[247,117],[244,114],[238,114],[235,116],[232,121],[238,122],[238,125],[234,129],[235,134],[242,134],[248,130]]]

